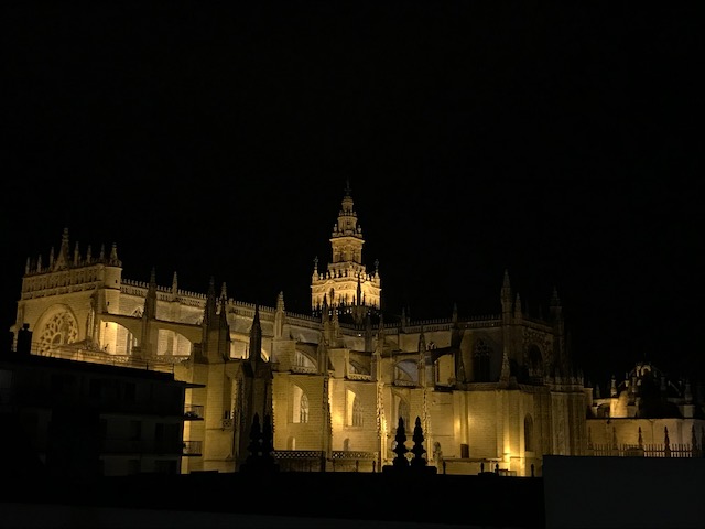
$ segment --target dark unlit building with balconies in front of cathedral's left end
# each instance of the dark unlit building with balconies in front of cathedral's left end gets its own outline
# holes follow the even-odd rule
[[[2,444],[11,474],[89,481],[181,472],[187,382],[173,374],[30,355],[0,355]]]

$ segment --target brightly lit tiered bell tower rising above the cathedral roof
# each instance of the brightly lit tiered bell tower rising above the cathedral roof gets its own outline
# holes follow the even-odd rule
[[[314,260],[311,279],[311,307],[321,312],[325,303],[339,315],[351,314],[356,322],[380,310],[381,282],[379,268],[372,273],[362,263],[362,228],[358,225],[350,184],[347,182],[338,222],[330,235],[332,261],[327,270],[318,270]],[[324,301],[325,300],[325,301]]]

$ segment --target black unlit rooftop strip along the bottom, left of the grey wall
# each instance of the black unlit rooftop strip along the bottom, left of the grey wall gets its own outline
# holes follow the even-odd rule
[[[142,474],[24,493],[0,504],[2,527],[544,527],[539,477]]]

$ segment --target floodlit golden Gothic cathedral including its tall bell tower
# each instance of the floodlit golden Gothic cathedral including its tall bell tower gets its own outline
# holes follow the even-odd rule
[[[283,468],[380,471],[395,433],[420,422],[430,465],[541,475],[543,455],[586,455],[592,389],[565,345],[554,291],[546,319],[522,312],[505,271],[490,316],[384,317],[377,263],[349,186],[330,236],[330,262],[311,274],[311,313],[122,277],[117,246],[61,246],[29,259],[15,334],[32,353],[166,370],[189,384],[181,472],[238,472],[254,418],[271,428]],[[393,273],[393,271],[390,271]],[[392,321],[393,320],[393,321]]]

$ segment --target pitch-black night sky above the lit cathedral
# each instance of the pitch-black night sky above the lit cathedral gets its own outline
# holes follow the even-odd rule
[[[2,321],[28,257],[307,313],[349,179],[383,303],[538,315],[588,376],[703,361],[698,2],[0,7]],[[702,366],[702,364],[701,364]]]

